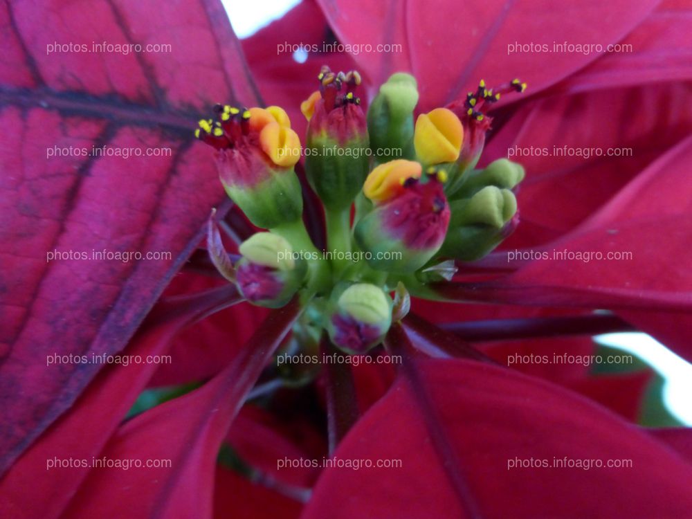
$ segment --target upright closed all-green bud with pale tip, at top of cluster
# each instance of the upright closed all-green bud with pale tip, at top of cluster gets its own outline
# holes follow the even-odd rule
[[[413,109],[417,103],[418,85],[410,74],[392,74],[380,86],[367,109],[367,131],[376,160],[392,156],[414,158]]]

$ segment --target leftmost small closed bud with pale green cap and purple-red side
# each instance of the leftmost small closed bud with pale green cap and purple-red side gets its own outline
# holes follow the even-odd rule
[[[243,297],[260,307],[279,308],[302,286],[307,265],[291,244],[273,233],[256,233],[239,247],[235,277]]]

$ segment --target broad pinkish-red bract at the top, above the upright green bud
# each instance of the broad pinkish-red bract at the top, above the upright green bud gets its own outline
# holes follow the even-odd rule
[[[650,13],[655,1],[570,4],[546,0],[326,1],[320,5],[345,44],[370,45],[358,65],[380,84],[389,74],[410,71],[419,81],[420,109],[461,98],[484,78],[489,85],[515,77],[533,92],[594,61]],[[601,44],[600,52],[554,52],[554,42]],[[401,44],[388,52],[378,44]],[[546,46],[513,52],[511,45]],[[441,49],[444,53],[440,55]]]

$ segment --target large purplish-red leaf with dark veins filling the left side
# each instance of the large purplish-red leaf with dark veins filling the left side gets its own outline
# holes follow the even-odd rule
[[[0,39],[0,121],[12,128],[0,152],[10,172],[0,206],[0,399],[12,424],[0,435],[4,468],[99,367],[46,370],[46,356],[120,351],[199,242],[210,207],[224,199],[210,152],[193,144],[194,120],[218,100],[257,98],[225,12],[212,0],[3,4]],[[55,44],[103,41],[171,50],[48,53]],[[104,145],[143,155],[55,151]],[[145,156],[147,147],[170,148],[171,156]],[[47,150],[56,156],[46,160]],[[47,252],[103,249],[170,257],[46,262]]]

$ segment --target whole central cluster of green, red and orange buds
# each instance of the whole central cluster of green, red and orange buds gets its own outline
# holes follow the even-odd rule
[[[325,66],[317,79],[318,91],[300,107],[308,120],[305,172],[325,209],[330,252],[352,253],[352,264],[326,260],[305,232],[293,171],[303,153],[284,110],[218,105],[217,120],[201,120],[196,135],[216,149],[229,196],[269,229],[241,244],[226,277],[264,307],[301,296],[310,318],[296,336],[324,333],[343,351],[363,354],[381,343],[393,311],[401,318],[395,286],[397,294],[406,286],[429,295],[421,287],[448,279],[516,228],[523,168],[504,158],[474,168],[491,127],[487,110],[526,84],[491,89],[482,81],[465,100],[415,117],[417,83],[406,73],[380,86],[367,115],[358,72]]]

